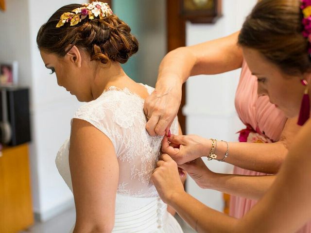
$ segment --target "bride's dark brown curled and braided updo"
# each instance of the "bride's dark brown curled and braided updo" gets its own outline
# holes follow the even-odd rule
[[[64,14],[74,14],[74,9],[81,8],[85,7],[81,4],[70,4],[58,9],[38,31],[36,40],[39,50],[63,57],[75,45],[87,51],[91,61],[98,60],[103,64],[111,61],[124,64],[138,51],[138,40],[131,34],[131,28],[112,12],[111,15],[90,19],[87,10],[85,17],[85,12],[82,11],[77,24],[70,26],[70,21],[65,20],[65,23],[56,27]],[[71,21],[74,19],[73,15]]]

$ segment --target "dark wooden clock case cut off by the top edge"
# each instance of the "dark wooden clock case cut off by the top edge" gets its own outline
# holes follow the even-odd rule
[[[191,23],[215,23],[222,16],[222,0],[180,0],[181,14]]]

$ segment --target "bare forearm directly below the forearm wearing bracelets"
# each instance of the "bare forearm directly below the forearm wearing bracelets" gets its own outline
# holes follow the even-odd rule
[[[248,199],[260,199],[275,181],[275,176],[240,176],[214,173],[205,188]]]

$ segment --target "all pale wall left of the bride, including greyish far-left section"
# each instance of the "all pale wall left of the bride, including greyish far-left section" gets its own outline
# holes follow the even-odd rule
[[[73,205],[60,177],[55,156],[70,133],[70,118],[80,103],[59,87],[44,67],[36,46],[39,27],[59,7],[84,0],[10,0],[0,12],[0,62],[18,61],[19,84],[31,88],[32,138],[30,146],[33,206],[46,220]]]

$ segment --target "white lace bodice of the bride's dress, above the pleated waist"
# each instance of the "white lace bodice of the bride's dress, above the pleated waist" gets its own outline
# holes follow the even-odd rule
[[[144,85],[151,94],[154,88]],[[110,87],[96,100],[80,107],[73,118],[83,119],[103,132],[113,143],[119,162],[118,194],[156,197],[150,181],[160,154],[161,136],[150,136],[143,112],[144,100],[127,88]],[[171,132],[178,133],[175,118]],[[56,156],[59,173],[72,191],[69,170],[69,139]]]

